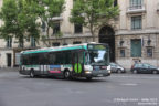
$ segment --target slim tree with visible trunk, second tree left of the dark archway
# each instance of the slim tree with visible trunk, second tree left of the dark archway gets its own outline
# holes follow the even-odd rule
[[[40,18],[42,22],[45,24],[46,29],[46,36],[43,35],[43,41],[46,44],[46,46],[51,46],[50,30],[53,30],[56,24],[56,21],[53,21],[52,19],[55,17],[60,17],[60,14],[63,12],[64,0],[42,0],[40,6],[43,9],[43,12],[41,12]],[[57,35],[62,35],[62,33],[59,32]]]

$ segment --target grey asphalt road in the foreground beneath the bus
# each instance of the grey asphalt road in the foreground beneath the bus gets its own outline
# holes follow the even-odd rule
[[[159,106],[159,75],[65,81],[0,72],[0,106]]]

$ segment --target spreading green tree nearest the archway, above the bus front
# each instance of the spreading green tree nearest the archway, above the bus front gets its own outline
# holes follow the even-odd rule
[[[70,21],[88,28],[95,41],[96,29],[108,24],[118,14],[119,9],[114,6],[114,0],[74,0]]]

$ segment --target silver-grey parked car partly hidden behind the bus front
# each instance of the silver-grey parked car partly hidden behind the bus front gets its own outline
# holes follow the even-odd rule
[[[125,73],[125,68],[117,63],[110,63],[110,71],[113,73]]]

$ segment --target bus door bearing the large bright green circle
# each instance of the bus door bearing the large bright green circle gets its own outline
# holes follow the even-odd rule
[[[73,52],[73,74],[80,75],[84,68],[84,51]]]

